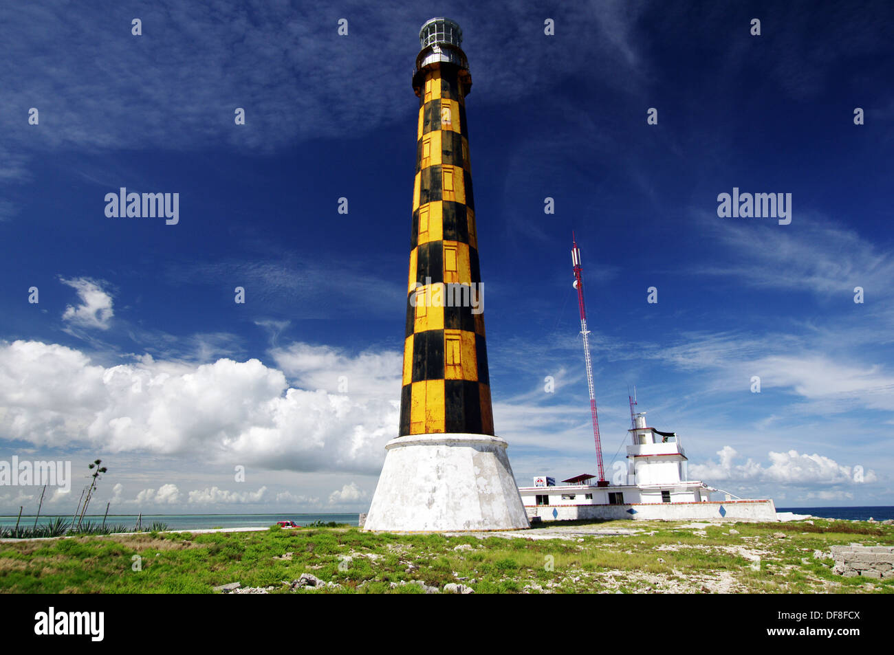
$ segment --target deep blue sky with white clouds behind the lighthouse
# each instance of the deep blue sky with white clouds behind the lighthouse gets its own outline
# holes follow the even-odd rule
[[[97,511],[366,511],[398,432],[433,16],[473,80],[517,482],[595,473],[574,231],[607,477],[636,387],[690,477],[894,504],[885,3],[125,1],[0,7],[0,460],[72,463],[44,513],[96,458]],[[176,223],[107,216],[122,187],[178,194]],[[790,194],[790,223],[721,217],[733,189]],[[0,513],[40,491],[0,486]]]

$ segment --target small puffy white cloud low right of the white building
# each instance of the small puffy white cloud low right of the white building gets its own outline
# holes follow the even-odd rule
[[[764,466],[748,458],[737,464],[736,449],[724,446],[717,451],[718,461],[706,464],[690,464],[689,474],[696,479],[713,482],[718,480],[782,483],[782,484],[843,484],[874,483],[878,477],[863,466],[843,466],[834,459],[822,455],[807,455],[797,450],[767,453],[770,466]]]

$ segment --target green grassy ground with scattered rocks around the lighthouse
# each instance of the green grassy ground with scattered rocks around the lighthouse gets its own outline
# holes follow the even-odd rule
[[[828,553],[835,544],[894,545],[889,525],[824,519],[702,530],[639,521],[562,525],[568,539],[532,539],[555,532],[549,524],[514,538],[480,539],[314,525],[0,542],[0,592],[211,593],[238,581],[289,593],[283,582],[302,573],[338,584],[299,591],[309,593],[423,591],[410,581],[466,584],[478,593],[894,592],[894,579],[844,578],[831,573],[831,559],[814,558],[815,550]]]

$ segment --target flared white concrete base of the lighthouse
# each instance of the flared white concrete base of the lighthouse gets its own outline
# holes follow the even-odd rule
[[[506,441],[486,434],[392,439],[365,531],[522,530],[527,522]]]

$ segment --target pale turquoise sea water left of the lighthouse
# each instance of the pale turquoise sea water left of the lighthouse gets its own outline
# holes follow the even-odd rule
[[[0,526],[13,527],[18,515],[0,516]],[[46,525],[55,521],[57,515],[40,515],[38,525]],[[71,521],[72,515],[62,516]],[[88,515],[84,520],[92,523],[102,523],[103,515]],[[298,525],[307,525],[314,521],[329,523],[346,523],[358,525],[358,515],[353,514],[144,514],[142,523],[144,526],[152,525],[153,521],[161,521],[168,525],[169,530],[198,530],[211,527],[265,527],[274,525],[277,521],[294,521]],[[124,524],[133,526],[137,524],[136,514],[110,514],[105,519],[106,524]],[[21,515],[20,525],[34,525],[34,515]]]

